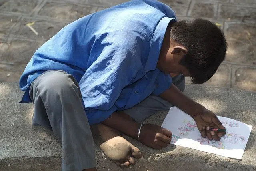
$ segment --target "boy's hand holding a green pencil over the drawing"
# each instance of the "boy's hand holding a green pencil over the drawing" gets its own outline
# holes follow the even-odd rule
[[[210,131],[210,128],[225,129],[225,127],[217,116],[206,108],[201,109],[194,120],[196,121],[198,130],[204,138],[207,137],[209,140],[214,139],[220,141],[220,137],[223,137],[226,134],[226,132]]]

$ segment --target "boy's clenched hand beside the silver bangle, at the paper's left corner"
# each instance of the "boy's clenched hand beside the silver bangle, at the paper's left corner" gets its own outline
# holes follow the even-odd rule
[[[140,130],[140,142],[153,149],[162,149],[170,144],[172,133],[154,124],[143,124]]]

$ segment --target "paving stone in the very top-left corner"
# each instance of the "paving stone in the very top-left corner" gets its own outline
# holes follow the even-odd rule
[[[0,7],[0,11],[30,13],[38,5],[37,0],[9,0]]]

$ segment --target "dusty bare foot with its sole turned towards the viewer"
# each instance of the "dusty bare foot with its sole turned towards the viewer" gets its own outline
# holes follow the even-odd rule
[[[91,130],[95,143],[116,165],[129,167],[135,165],[135,159],[140,159],[140,150],[121,137],[116,129],[100,123],[91,126]]]

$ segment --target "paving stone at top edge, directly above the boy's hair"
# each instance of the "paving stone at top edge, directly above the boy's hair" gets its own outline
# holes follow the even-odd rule
[[[186,16],[191,0],[159,0],[170,6],[176,15]]]

